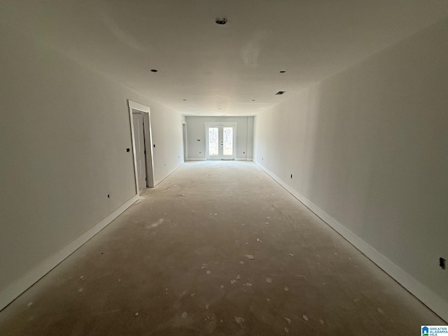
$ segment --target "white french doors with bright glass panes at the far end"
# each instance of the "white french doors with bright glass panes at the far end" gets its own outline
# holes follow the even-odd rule
[[[207,160],[235,160],[235,123],[206,124]]]

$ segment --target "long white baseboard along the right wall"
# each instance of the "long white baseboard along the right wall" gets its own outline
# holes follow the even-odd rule
[[[411,275],[402,270],[400,267],[395,265],[391,260],[386,258],[384,255],[375,250],[372,246],[367,244],[363,239],[356,236],[353,232],[347,229],[344,225],[336,221],[330,215],[326,214],[325,211],[316,206],[313,202],[308,200],[302,194],[298,193],[297,190],[293,189],[287,183],[282,181],[279,176],[270,172],[269,169],[260,165],[259,162],[255,162],[255,165],[260,167],[266,174],[272,177],[274,181],[279,183],[280,186],[285,188],[291,195],[293,195],[297,200],[304,204],[308,209],[314,212],[319,218],[321,218],[325,223],[327,223],[331,228],[339,233],[346,241],[355,246],[361,253],[363,253],[367,258],[372,260],[379,268],[383,269],[389,276],[391,276],[395,281],[400,283],[406,290],[419,299],[423,304],[429,309],[435,312],[440,318],[448,323],[448,302],[445,302],[440,298],[439,295],[434,293],[432,290],[424,286],[419,281],[416,281]]]

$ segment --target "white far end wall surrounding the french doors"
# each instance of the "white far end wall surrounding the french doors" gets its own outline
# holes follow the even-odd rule
[[[206,160],[206,141],[204,123],[237,123],[237,144],[235,160],[252,160],[253,117],[195,117],[187,116],[188,160]],[[197,140],[200,141],[197,141]]]

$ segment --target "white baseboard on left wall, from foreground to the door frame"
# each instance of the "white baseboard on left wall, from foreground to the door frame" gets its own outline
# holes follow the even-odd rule
[[[72,241],[69,245],[62,248],[61,251],[55,253],[55,255],[50,256],[41,262],[41,264],[31,269],[27,274],[22,276],[22,278],[18,279],[14,283],[10,284],[4,290],[0,292],[0,311],[8,306],[11,302],[13,302],[19,295],[21,295],[25,290],[29,287],[33,286],[39,279],[41,279],[45,274],[50,272],[53,268],[55,268],[59,262],[62,262],[65,258],[67,258],[71,253],[76,251],[80,246],[85,244],[90,238],[104,228],[106,228],[109,223],[111,223],[115,218],[120,216],[127,208],[129,208],[134,202],[139,199],[138,195],[132,197],[129,201],[125,202],[121,207],[113,211],[112,214],[104,218],[102,221],[94,225],[93,228],[85,232],[83,235]]]

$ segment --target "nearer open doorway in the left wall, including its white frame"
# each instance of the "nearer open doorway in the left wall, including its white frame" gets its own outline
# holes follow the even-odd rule
[[[154,186],[153,139],[151,111],[148,106],[128,100],[134,154],[136,191]]]

